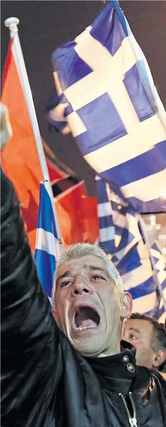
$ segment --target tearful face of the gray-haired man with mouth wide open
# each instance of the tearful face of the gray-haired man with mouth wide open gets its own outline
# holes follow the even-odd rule
[[[53,315],[70,343],[91,357],[119,351],[120,301],[103,260],[94,255],[69,260],[57,277]]]

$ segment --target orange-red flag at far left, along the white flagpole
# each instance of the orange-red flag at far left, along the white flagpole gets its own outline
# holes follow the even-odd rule
[[[39,182],[43,179],[33,130],[15,60],[13,40],[9,44],[3,76],[2,103],[9,109],[13,136],[2,153],[2,167],[11,179],[21,202],[22,215],[32,250],[35,248],[39,204]],[[66,177],[51,162],[48,169],[55,183]]]

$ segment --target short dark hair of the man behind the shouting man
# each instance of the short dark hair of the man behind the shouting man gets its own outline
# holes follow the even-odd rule
[[[147,320],[153,325],[153,335],[152,335],[152,342],[151,347],[154,351],[159,350],[166,350],[166,327],[163,323],[158,323],[154,317],[148,316],[146,314],[140,314],[140,313],[132,313],[130,316],[130,319],[140,319],[140,320]],[[166,361],[165,361],[166,362]],[[165,362],[160,366],[163,367]]]

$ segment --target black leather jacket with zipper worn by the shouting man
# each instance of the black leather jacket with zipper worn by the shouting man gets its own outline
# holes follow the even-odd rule
[[[165,427],[159,373],[129,349],[82,357],[58,329],[3,174],[1,187],[2,427],[131,427],[135,415],[138,427]]]

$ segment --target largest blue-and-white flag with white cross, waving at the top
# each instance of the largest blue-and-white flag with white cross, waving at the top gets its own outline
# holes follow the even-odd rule
[[[140,22],[141,31],[141,22]],[[52,56],[47,117],[137,212],[166,211],[166,113],[118,2]]]

